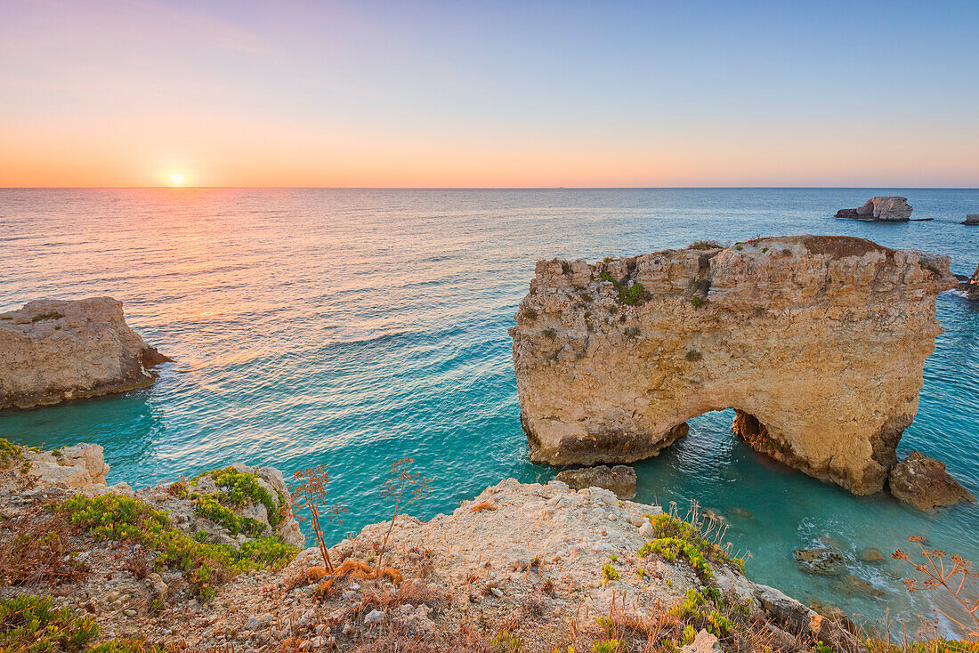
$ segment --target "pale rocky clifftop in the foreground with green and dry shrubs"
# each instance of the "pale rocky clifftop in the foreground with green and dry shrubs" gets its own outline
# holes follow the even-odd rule
[[[716,536],[608,490],[506,480],[450,515],[399,516],[383,576],[371,566],[391,525],[351,534],[330,547],[330,575],[318,548],[302,548],[272,468],[235,465],[132,490],[105,485],[98,446],[0,444],[0,600],[51,594],[114,645],[498,651],[519,642],[552,651],[614,638],[632,647],[655,634],[692,651],[765,642],[810,650],[816,641],[850,650],[855,641],[840,615],[751,583]],[[147,521],[134,520],[139,511]],[[156,536],[144,533],[149,524]],[[42,531],[55,539],[24,538]],[[267,541],[279,548],[256,544]],[[173,542],[202,548],[181,559]],[[251,553],[214,562],[222,551]]]

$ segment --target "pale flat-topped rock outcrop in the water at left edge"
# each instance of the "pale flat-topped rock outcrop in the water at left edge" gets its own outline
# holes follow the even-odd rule
[[[112,298],[26,303],[0,313],[0,409],[145,388],[167,360]]]

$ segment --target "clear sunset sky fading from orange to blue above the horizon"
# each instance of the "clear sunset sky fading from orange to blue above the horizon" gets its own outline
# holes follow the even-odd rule
[[[0,187],[977,187],[977,34],[976,0],[0,0]]]

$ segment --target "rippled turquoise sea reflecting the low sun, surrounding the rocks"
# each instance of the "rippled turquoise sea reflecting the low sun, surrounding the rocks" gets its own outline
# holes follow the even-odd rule
[[[830,217],[893,194],[935,220]],[[416,511],[428,517],[500,479],[558,471],[527,460],[506,333],[537,259],[848,234],[950,255],[953,271],[971,274],[979,228],[957,223],[977,211],[975,190],[0,191],[0,310],[111,295],[176,360],[150,390],[0,412],[0,437],[101,443],[110,482],[134,485],[238,460],[287,474],[323,463],[332,496],[350,506],[333,538],[385,516],[377,486],[408,455],[433,479]],[[938,314],[946,333],[901,449],[945,461],[979,494],[979,305],[947,293]],[[759,456],[730,421],[701,416],[639,463],[638,499],[696,498],[726,514],[735,550],[753,553],[754,580],[876,617],[926,598],[909,606],[902,568],[859,562],[862,547],[886,555],[920,534],[979,561],[975,505],[926,516],[853,496]],[[822,536],[886,597],[800,573],[792,549]]]

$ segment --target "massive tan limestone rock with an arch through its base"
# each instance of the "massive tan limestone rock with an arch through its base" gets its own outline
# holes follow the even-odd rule
[[[531,458],[628,463],[735,408],[756,449],[880,490],[942,332],[949,262],[842,236],[540,261],[510,330]]]

